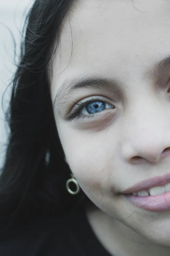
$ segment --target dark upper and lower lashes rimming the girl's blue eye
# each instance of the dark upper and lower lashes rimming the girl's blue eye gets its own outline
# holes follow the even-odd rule
[[[91,117],[91,118],[94,118],[94,115],[98,115],[99,113],[101,113],[102,111],[104,111],[104,110],[102,110],[102,111],[99,111],[99,112],[97,112],[97,113],[95,113],[95,114],[89,114],[89,115],[80,115],[80,112],[84,109],[84,108],[86,108],[90,103],[93,103],[93,102],[96,102],[96,101],[99,101],[99,102],[105,102],[105,101],[102,101],[101,99],[99,99],[99,98],[92,98],[92,99],[90,99],[90,100],[87,100],[87,101],[85,101],[85,102],[79,102],[79,103],[77,103],[76,105],[77,106],[79,106],[79,108],[77,108],[68,118],[67,118],[67,121],[68,122],[71,122],[71,121],[73,121],[73,120],[78,120],[78,119],[80,119],[80,118],[89,118],[89,117]],[[106,102],[105,102],[106,103]],[[107,103],[108,104],[108,103]],[[110,104],[111,105],[111,104]]]

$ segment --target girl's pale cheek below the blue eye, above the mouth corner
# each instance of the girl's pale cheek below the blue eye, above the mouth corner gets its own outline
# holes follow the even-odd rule
[[[78,184],[91,197],[105,196],[111,190],[114,148],[106,134],[61,129],[59,131],[64,153]],[[113,147],[113,145],[112,145]],[[112,152],[112,153],[111,153]],[[111,186],[112,185],[112,186]]]

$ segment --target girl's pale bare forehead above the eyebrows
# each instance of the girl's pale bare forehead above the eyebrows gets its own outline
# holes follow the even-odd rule
[[[162,0],[73,1],[52,58],[54,93],[80,74],[139,79],[170,54],[169,11]]]

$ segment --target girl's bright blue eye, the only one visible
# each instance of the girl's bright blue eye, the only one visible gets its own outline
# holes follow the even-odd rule
[[[93,118],[94,115],[99,114],[101,111],[109,108],[115,108],[113,105],[101,101],[97,98],[93,98],[85,102],[79,102],[76,105],[79,107],[75,108],[75,111],[67,118],[67,121],[86,117]]]

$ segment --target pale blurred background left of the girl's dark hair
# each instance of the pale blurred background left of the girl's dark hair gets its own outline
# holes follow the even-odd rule
[[[2,0],[0,1],[0,168],[3,166],[4,153],[9,132],[5,122],[3,107],[6,111],[12,85],[8,84],[16,70],[14,65],[14,41],[16,42],[16,62],[20,53],[21,32],[25,16],[31,8],[34,0]],[[11,35],[12,32],[12,35]]]

